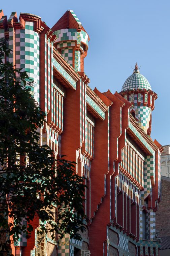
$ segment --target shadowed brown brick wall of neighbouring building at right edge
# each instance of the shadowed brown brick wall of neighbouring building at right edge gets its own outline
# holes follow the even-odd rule
[[[156,229],[159,236],[170,236],[170,178],[162,177],[162,201],[156,212]]]

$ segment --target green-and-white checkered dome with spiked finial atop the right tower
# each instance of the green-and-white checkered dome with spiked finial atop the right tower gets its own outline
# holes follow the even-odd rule
[[[138,88],[151,90],[151,86],[149,82],[147,81],[146,77],[140,74],[138,65],[136,63],[133,74],[126,79],[125,83],[122,86],[122,91],[132,90],[132,89],[136,90]]]

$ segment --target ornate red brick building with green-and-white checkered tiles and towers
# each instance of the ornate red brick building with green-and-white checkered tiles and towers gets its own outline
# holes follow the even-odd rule
[[[50,29],[41,18],[0,11],[0,36],[12,50],[9,61],[35,82],[32,94],[47,115],[40,144],[77,162],[87,178],[82,241],[65,234],[54,241],[21,235],[15,256],[158,256],[155,213],[161,200],[161,145],[150,138],[157,94],[137,64],[120,93],[89,87],[84,58],[89,35],[76,14],[66,11]]]

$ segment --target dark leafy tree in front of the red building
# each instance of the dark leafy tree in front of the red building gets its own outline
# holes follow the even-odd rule
[[[45,124],[45,114],[31,96],[26,72],[15,70],[6,62],[10,50],[0,41],[0,250],[9,241],[33,230],[31,221],[41,220],[40,232],[69,233],[80,239],[83,232],[83,178],[75,173],[74,162],[54,157],[53,150],[40,146],[38,127]],[[17,76],[16,76],[17,74]],[[31,82],[32,83],[32,82]],[[57,209],[54,222],[53,206]],[[23,225],[22,221],[27,221]],[[48,225],[46,225],[48,222]]]

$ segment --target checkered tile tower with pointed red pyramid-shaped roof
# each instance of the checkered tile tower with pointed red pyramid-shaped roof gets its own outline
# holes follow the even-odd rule
[[[54,46],[63,58],[75,71],[84,72],[84,58],[90,38],[74,11],[66,11],[52,31],[57,36]]]

